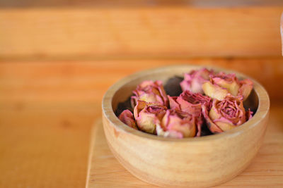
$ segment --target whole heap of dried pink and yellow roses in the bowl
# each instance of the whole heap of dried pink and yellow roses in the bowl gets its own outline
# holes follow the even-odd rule
[[[180,96],[166,96],[161,81],[146,80],[133,91],[131,111],[119,119],[134,129],[163,137],[200,137],[204,119],[213,133],[231,130],[252,118],[243,101],[253,89],[251,80],[213,70],[192,70],[180,83]],[[202,94],[205,94],[202,95]],[[168,109],[168,107],[170,107]]]

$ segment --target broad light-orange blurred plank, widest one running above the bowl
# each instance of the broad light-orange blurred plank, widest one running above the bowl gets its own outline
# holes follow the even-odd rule
[[[283,6],[0,9],[0,58],[279,56]]]

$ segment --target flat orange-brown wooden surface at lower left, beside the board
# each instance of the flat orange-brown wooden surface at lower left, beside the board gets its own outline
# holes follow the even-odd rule
[[[0,104],[0,187],[85,186],[98,104]]]

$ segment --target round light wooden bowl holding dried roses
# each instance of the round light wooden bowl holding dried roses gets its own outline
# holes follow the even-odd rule
[[[129,75],[108,89],[103,97],[103,127],[108,146],[117,160],[140,180],[160,186],[209,187],[241,173],[255,157],[267,127],[270,99],[255,80],[247,99],[258,107],[247,123],[220,134],[170,139],[134,130],[115,115],[117,104],[132,95],[143,80],[163,80],[183,75],[196,65],[174,65]],[[223,70],[226,73],[235,71]],[[239,78],[247,76],[236,73]]]

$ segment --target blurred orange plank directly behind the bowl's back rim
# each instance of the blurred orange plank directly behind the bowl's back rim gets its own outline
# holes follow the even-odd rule
[[[100,101],[111,84],[139,70],[174,64],[216,65],[258,80],[282,98],[283,58],[193,58],[0,63],[0,101]]]

